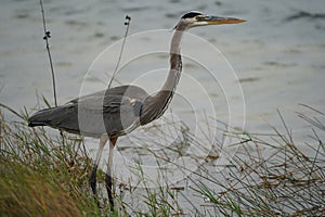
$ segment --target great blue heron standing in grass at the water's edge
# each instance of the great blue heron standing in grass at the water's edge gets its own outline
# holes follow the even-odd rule
[[[112,165],[117,138],[159,118],[168,107],[182,72],[180,44],[183,33],[197,26],[243,22],[245,21],[239,18],[210,16],[196,11],[188,12],[174,27],[170,46],[170,71],[162,88],[155,95],[150,95],[145,90],[135,86],[114,87],[77,98],[57,107],[41,110],[29,118],[28,126],[50,126],[73,133],[100,138],[99,152],[90,176],[90,186],[94,195],[96,195],[98,166],[102,151],[109,140],[105,183],[113,207]],[[86,123],[87,126],[80,127],[80,122]]]

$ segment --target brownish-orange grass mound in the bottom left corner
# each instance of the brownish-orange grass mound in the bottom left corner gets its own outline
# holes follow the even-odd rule
[[[62,186],[32,168],[1,157],[1,216],[81,216]]]

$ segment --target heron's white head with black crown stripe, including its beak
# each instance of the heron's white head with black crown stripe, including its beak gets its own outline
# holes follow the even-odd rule
[[[240,18],[211,16],[197,11],[191,11],[181,17],[181,21],[178,23],[176,28],[182,26],[184,29],[187,29],[197,26],[239,24],[244,22],[246,21]]]

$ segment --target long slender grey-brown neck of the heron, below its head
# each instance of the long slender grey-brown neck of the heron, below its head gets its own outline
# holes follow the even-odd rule
[[[179,25],[170,44],[170,69],[162,88],[153,97],[148,97],[142,106],[140,122],[145,125],[160,117],[167,110],[182,73],[181,40],[185,27]]]

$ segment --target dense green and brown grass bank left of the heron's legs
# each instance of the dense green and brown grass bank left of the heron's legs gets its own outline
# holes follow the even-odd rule
[[[14,112],[14,111],[12,111]],[[98,216],[81,138],[62,141],[26,126],[26,111],[6,123],[0,110],[0,216]]]

